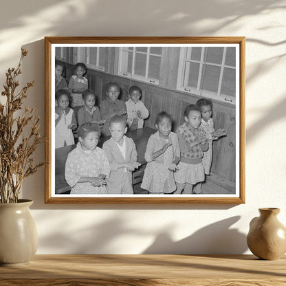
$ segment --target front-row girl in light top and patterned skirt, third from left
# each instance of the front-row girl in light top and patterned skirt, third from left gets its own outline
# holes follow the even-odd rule
[[[147,166],[141,188],[152,194],[174,192],[174,172],[180,156],[178,137],[171,132],[172,120],[165,111],[157,114],[155,127],[157,132],[150,136],[146,146]]]

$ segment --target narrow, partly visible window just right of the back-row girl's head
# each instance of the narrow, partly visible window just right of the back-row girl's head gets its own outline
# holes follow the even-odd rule
[[[86,47],[85,63],[87,64],[87,67],[99,69],[104,72],[105,49],[105,47]]]

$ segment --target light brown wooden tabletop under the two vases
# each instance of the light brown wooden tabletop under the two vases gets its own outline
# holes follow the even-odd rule
[[[36,255],[29,265],[0,267],[0,285],[286,285],[286,256]]]

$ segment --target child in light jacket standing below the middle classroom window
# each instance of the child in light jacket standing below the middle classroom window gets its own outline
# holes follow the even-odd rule
[[[130,99],[126,101],[127,125],[130,130],[140,129],[144,125],[144,119],[148,118],[149,111],[140,100],[142,91],[137,85],[129,88]]]

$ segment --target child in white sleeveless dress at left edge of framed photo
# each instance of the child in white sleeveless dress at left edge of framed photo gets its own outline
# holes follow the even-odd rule
[[[76,116],[69,108],[69,91],[59,89],[56,91],[56,127],[55,127],[55,148],[74,144],[72,130],[76,129]]]

